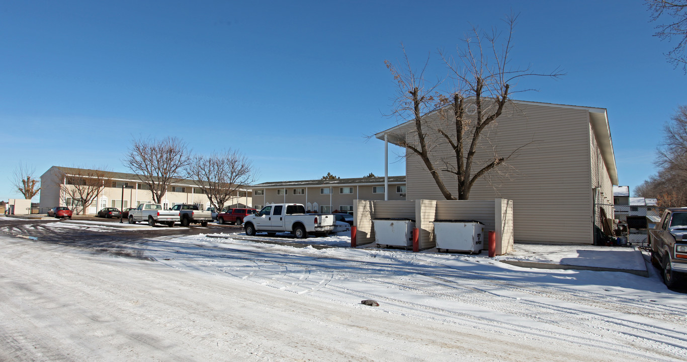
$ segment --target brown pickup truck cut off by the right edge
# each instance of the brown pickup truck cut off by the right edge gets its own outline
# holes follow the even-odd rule
[[[666,209],[649,230],[651,263],[663,270],[668,288],[684,282],[687,273],[687,207]]]

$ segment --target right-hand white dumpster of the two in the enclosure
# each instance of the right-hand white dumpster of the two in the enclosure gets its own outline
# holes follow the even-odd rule
[[[477,220],[434,220],[436,250],[480,253],[484,249],[484,224]]]

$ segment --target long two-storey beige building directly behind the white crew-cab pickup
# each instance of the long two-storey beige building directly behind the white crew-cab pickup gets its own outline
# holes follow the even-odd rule
[[[405,176],[388,178],[389,200],[405,200]],[[353,200],[384,200],[384,177],[265,182],[253,185],[254,207],[300,203],[310,212],[352,212]]]

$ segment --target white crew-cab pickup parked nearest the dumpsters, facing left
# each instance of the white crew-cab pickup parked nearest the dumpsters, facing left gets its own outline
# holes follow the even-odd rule
[[[303,239],[308,234],[324,236],[334,229],[334,224],[334,215],[306,214],[305,207],[299,203],[267,205],[260,212],[243,218],[243,228],[250,236],[258,232],[273,235],[290,231],[297,239]]]

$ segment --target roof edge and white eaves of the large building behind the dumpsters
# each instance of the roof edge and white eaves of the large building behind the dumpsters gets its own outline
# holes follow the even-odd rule
[[[613,153],[613,141],[611,140],[611,128],[608,123],[608,115],[605,108],[596,108],[588,106],[572,106],[569,104],[554,104],[554,103],[544,103],[544,102],[528,102],[523,100],[511,100],[513,103],[517,104],[532,104],[536,106],[552,106],[559,108],[569,108],[569,109],[582,109],[589,112],[589,122],[592,124],[592,129],[594,130],[594,136],[596,137],[596,142],[598,143],[599,150],[601,152],[601,157],[603,157],[606,168],[608,170],[609,176],[611,177],[611,183],[613,185],[618,185],[618,169],[616,168],[616,155]],[[434,113],[433,111],[431,113]],[[376,133],[374,137],[378,139],[384,139],[384,135],[387,135],[387,140],[392,144],[398,145],[405,138],[405,133],[398,132],[401,128],[405,128],[409,124],[412,124],[412,120],[398,124],[385,131]]]

